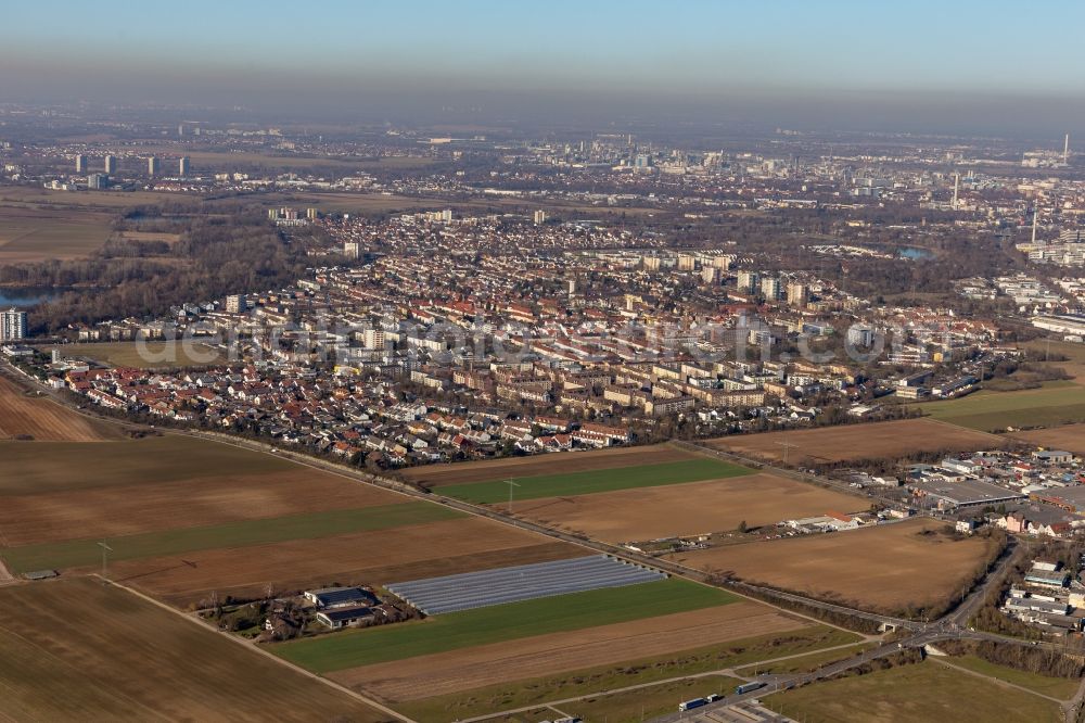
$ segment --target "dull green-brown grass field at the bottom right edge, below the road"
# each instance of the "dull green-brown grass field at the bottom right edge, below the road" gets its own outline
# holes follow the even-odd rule
[[[827,681],[763,700],[767,708],[808,723],[950,721],[961,718],[962,701],[970,721],[1063,720],[1050,700],[932,661]]]

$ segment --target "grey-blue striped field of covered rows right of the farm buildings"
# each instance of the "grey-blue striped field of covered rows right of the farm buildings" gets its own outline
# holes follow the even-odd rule
[[[422,612],[470,610],[603,587],[663,580],[666,574],[609,555],[519,565],[444,578],[394,583],[387,588]]]

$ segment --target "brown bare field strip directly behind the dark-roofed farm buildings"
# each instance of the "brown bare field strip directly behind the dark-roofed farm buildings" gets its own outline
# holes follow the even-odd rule
[[[482,518],[411,524],[317,540],[126,560],[111,576],[178,606],[212,592],[241,596],[331,582],[384,584],[584,555],[580,547]]]

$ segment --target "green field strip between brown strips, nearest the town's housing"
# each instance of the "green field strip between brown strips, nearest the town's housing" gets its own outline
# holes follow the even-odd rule
[[[753,470],[739,465],[698,458],[639,467],[510,479],[519,485],[513,490],[515,499],[537,499],[719,480],[752,473]],[[509,499],[509,484],[505,481],[449,485],[443,487],[441,492],[457,499],[478,504],[494,504]]]

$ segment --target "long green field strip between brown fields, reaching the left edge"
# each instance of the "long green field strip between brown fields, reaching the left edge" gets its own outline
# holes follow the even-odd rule
[[[344,483],[345,484],[345,483]],[[105,542],[112,560],[182,555],[197,550],[248,547],[293,540],[315,540],[353,532],[388,530],[465,517],[442,505],[424,502],[382,505],[362,509],[327,510],[306,515],[240,520],[213,527],[146,532]],[[24,545],[0,549],[0,558],[12,572],[81,568],[101,560],[98,540]]]

